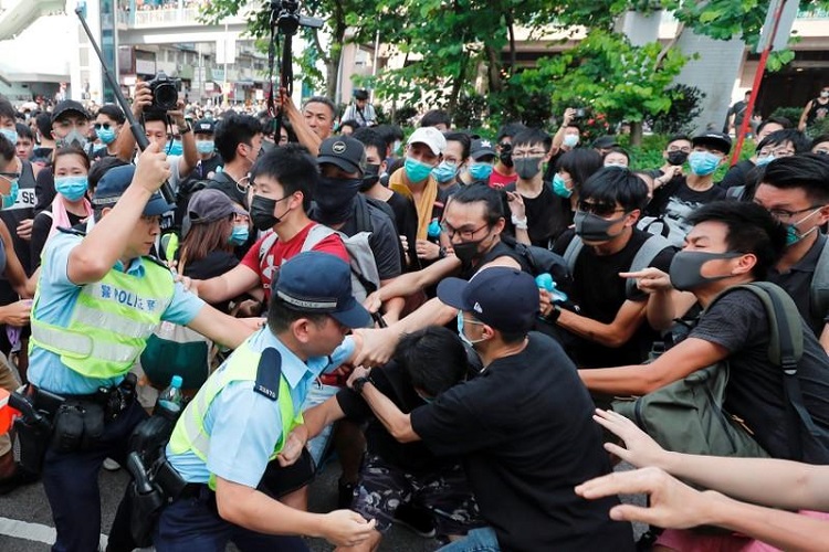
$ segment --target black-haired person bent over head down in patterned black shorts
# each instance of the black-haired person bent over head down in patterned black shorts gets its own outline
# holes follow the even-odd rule
[[[406,336],[395,352],[395,360],[375,368],[364,381],[370,381],[401,412],[409,413],[431,403],[466,375],[466,351],[458,336],[441,327],[429,327]],[[335,397],[303,413],[305,428],[294,433],[316,436],[324,426],[348,417],[368,421],[367,452],[360,468],[360,480],[351,509],[366,519],[377,520],[370,542],[375,549],[391,527],[395,512],[402,503],[426,507],[442,535],[466,534],[480,527],[478,506],[472,498],[460,459],[436,456],[423,443],[401,444],[374,417],[360,397],[359,383],[344,389]],[[409,498],[411,497],[411,498]],[[378,532],[379,531],[379,532]]]

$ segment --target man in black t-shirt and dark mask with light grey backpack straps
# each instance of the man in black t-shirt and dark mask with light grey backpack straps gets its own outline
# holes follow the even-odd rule
[[[573,270],[570,298],[578,312],[546,301],[543,314],[576,340],[567,352],[576,364],[602,367],[608,363],[638,363],[644,360],[658,335],[646,322],[644,294],[628,295],[628,272],[649,234],[636,223],[648,199],[648,189],[628,169],[609,167],[594,174],[581,188],[575,231],[562,234],[554,251],[564,255],[578,236],[584,242]],[[673,248],[665,248],[650,263],[668,269]],[[546,293],[545,293],[546,294]]]

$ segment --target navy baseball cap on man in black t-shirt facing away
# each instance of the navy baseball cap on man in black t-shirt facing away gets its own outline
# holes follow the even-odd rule
[[[535,279],[506,266],[479,270],[469,282],[445,278],[438,285],[438,298],[506,333],[529,331],[539,311]]]

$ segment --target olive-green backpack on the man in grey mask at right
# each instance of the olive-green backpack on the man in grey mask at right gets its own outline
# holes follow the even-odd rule
[[[791,427],[800,428],[799,432],[789,432],[794,459],[826,463],[829,459],[826,446],[829,438],[826,432],[815,426],[804,406],[797,380],[797,364],[804,351],[802,323],[797,307],[786,291],[767,282],[734,286],[714,301],[741,288],[754,293],[766,308],[770,336],[768,358],[780,367]],[[647,395],[615,401],[612,408],[636,422],[668,450],[768,457],[752,437],[751,429],[723,407],[727,384],[728,363],[724,361]]]

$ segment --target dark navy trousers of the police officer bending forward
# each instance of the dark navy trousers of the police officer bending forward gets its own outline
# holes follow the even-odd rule
[[[258,533],[224,521],[207,487],[198,497],[180,498],[166,507],[153,538],[158,552],[224,552],[231,541],[242,552],[308,550],[300,537]]]

